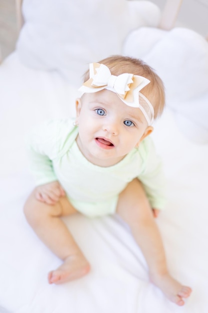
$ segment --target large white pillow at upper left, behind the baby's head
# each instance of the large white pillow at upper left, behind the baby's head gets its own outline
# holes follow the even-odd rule
[[[21,61],[58,70],[78,87],[89,62],[121,54],[129,31],[157,27],[160,10],[151,1],[24,0],[23,16],[17,42]]]

